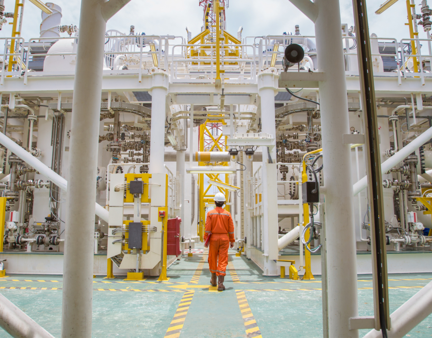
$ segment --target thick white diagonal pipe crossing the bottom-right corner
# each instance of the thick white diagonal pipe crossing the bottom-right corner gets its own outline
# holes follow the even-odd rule
[[[413,297],[390,315],[391,329],[388,338],[404,337],[421,321],[432,313],[432,282],[423,287]],[[381,331],[371,330],[364,338],[380,338]]]

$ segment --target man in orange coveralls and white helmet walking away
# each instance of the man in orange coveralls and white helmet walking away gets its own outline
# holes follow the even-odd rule
[[[218,291],[223,291],[225,270],[228,264],[228,247],[234,247],[234,224],[231,214],[222,209],[225,196],[218,192],[214,196],[216,208],[208,211],[206,220],[206,232],[204,241],[211,234],[208,250],[208,266],[211,272],[210,284],[216,286],[216,275],[218,279]],[[229,243],[229,244],[228,244]],[[219,258],[219,259],[218,259]]]

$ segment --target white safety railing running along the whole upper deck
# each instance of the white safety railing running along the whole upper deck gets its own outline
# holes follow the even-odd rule
[[[170,81],[175,82],[179,79],[212,82],[216,78],[216,47],[212,44],[192,45],[182,43],[170,45],[170,41],[173,39],[181,38],[182,42],[184,39],[179,36],[169,35],[124,35],[118,31],[108,31],[108,33],[112,35],[106,36],[104,74],[138,74],[138,81],[141,82],[143,74],[149,74],[149,69],[155,67],[169,71]],[[73,75],[75,72],[73,62],[68,69],[57,67],[53,71],[44,69],[37,72],[29,70],[29,62],[35,57],[45,57],[45,61],[56,57],[69,58],[73,61],[77,55],[77,46],[75,45],[78,38],[79,36],[66,36],[55,39],[52,37],[37,37],[31,38],[26,44],[22,37],[1,37],[0,40],[4,42],[4,48],[0,55],[3,59],[0,84],[4,84],[5,78],[9,76],[22,76],[24,84],[27,84],[28,77]],[[253,43],[247,43],[251,41],[251,38],[253,38]],[[37,52],[38,49],[47,50],[53,42],[67,39],[73,40],[74,44],[69,51]],[[285,48],[291,43],[302,45],[305,49],[305,59],[309,62],[310,68],[317,68],[316,55],[319,57],[319,53],[315,49],[314,39],[315,36],[312,35],[267,35],[246,37],[243,39],[245,43],[240,45],[222,45],[220,63],[223,77],[225,79],[241,79],[244,80],[244,83],[256,83],[257,73],[270,66],[274,54],[277,55],[276,59],[280,61]],[[349,65],[346,69],[347,75],[356,75],[358,74],[355,66],[357,53],[355,45],[351,42],[355,40],[355,37],[345,35],[342,39],[344,41],[344,56],[347,65]],[[11,52],[13,40],[15,48]],[[375,76],[398,77],[399,84],[402,83],[402,77],[403,79],[418,78],[422,85],[425,83],[425,78],[432,77],[429,68],[428,70],[424,69],[424,62],[432,59],[432,41],[430,39],[414,38],[398,41],[394,38],[371,37],[371,40],[380,42],[380,46],[384,43],[384,47],[394,48],[394,50],[386,53],[372,53],[372,56],[392,57],[397,68],[396,71],[380,72],[376,73]],[[276,51],[273,51],[275,42],[279,44],[279,47]],[[415,43],[416,49],[407,51],[406,47],[411,42]],[[151,47],[152,44],[153,47]],[[198,55],[191,56],[188,53],[190,48],[196,51],[205,51],[205,53],[198,52],[195,53]],[[238,49],[239,55],[225,55],[226,48]],[[416,58],[419,65],[418,72],[407,69],[410,58]],[[14,62],[12,71],[8,71],[6,66],[9,59],[13,59]],[[280,64],[278,63],[278,65]],[[410,68],[412,69],[412,67]],[[191,79],[194,77],[196,79]]]

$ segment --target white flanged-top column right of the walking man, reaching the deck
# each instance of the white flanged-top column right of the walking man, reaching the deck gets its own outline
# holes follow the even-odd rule
[[[276,125],[274,116],[274,96],[278,92],[277,71],[268,69],[258,74],[258,94],[261,98],[261,132],[276,137]],[[268,148],[262,149],[262,206],[263,206],[263,249],[264,249],[264,275],[277,275],[277,267],[274,262],[278,256],[277,250],[277,186],[276,186],[276,148],[270,150],[271,161],[268,156]],[[272,164],[271,164],[272,162]]]

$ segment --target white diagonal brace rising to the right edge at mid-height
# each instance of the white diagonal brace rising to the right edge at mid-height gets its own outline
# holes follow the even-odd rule
[[[428,142],[432,138],[432,128],[426,130],[423,134],[417,136],[413,141],[408,143],[405,147],[396,152],[388,160],[381,163],[381,172],[384,174],[388,170],[395,167],[400,161],[402,161],[409,154],[414,152],[417,148]],[[325,151],[324,151],[325,152]],[[355,183],[352,188],[354,190],[354,196],[368,186],[368,176],[363,177],[360,181]]]

